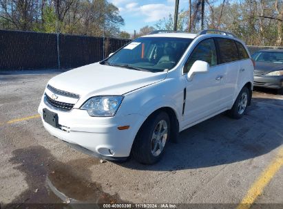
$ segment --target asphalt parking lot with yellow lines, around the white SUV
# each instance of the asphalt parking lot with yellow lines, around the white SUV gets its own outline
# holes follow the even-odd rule
[[[57,71],[0,74],[0,203],[281,203],[283,96],[257,89],[241,120],[217,115],[180,133],[155,165],[103,162],[43,128]]]

